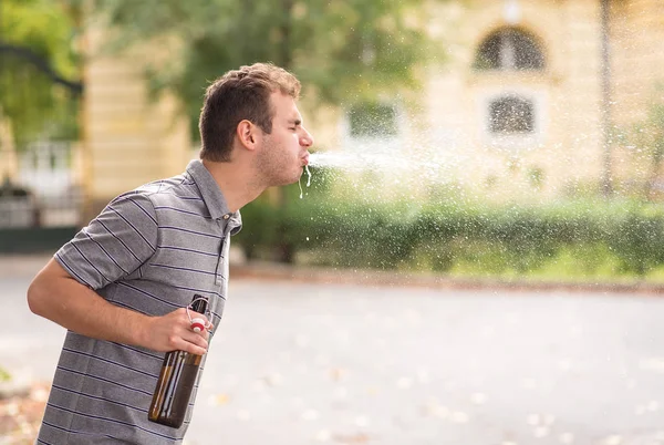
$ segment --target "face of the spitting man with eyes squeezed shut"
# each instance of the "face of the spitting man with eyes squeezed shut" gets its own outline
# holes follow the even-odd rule
[[[282,186],[302,175],[313,137],[302,126],[302,116],[291,96],[274,92],[270,101],[274,112],[272,132],[262,134],[256,165],[267,186]]]

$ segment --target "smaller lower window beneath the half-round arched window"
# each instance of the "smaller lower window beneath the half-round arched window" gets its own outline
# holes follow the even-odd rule
[[[489,103],[489,131],[492,134],[535,132],[535,110],[531,101],[515,95],[498,97]]]

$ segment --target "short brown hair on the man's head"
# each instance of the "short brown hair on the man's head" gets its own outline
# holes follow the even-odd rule
[[[243,120],[270,134],[274,114],[270,96],[273,92],[297,100],[300,82],[288,71],[270,63],[241,66],[217,79],[207,89],[200,112],[200,158],[230,161],[234,137]]]

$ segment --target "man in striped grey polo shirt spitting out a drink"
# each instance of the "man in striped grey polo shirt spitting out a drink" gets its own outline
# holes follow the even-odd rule
[[[270,186],[294,183],[312,136],[295,101],[300,83],[257,63],[211,84],[200,114],[200,159],[174,178],[113,199],[64,245],[28,290],[30,309],[69,331],[38,443],[170,444],[148,422],[165,352],[205,354],[227,297],[229,237],[239,209]],[[210,334],[186,308],[208,297]]]

